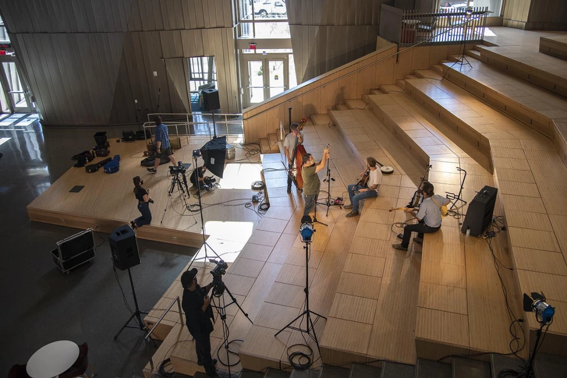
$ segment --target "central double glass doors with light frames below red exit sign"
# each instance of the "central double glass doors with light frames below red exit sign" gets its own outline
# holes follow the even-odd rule
[[[280,54],[281,55],[281,54]],[[247,71],[244,88],[244,107],[259,104],[289,88],[289,65],[285,56],[258,55],[244,57]]]

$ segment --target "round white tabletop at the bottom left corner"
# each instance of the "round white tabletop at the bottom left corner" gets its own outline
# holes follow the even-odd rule
[[[55,341],[29,358],[26,371],[32,378],[53,378],[73,366],[78,356],[79,347],[73,341]]]

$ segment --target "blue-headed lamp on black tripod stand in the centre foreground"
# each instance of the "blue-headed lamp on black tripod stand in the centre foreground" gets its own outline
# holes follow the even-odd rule
[[[317,323],[319,318],[323,318],[325,320],[327,320],[327,318],[324,317],[323,315],[319,315],[315,311],[311,311],[309,308],[309,256],[310,256],[311,236],[313,235],[315,230],[313,229],[312,223],[307,221],[307,218],[309,221],[311,221],[311,218],[309,216],[304,216],[302,218],[302,225],[299,229],[301,231],[302,242],[305,243],[305,246],[303,247],[303,249],[305,250],[305,288],[303,289],[303,292],[305,293],[305,310],[302,313],[300,313],[297,317],[295,317],[295,319],[287,323],[287,325],[284,328],[278,330],[278,332],[274,334],[274,337],[278,336],[278,334],[280,334],[282,331],[284,331],[287,328],[298,330],[299,332],[307,333],[309,336],[311,336],[311,338],[317,344],[317,349],[319,350],[319,340],[317,340],[317,334],[315,333],[315,323]],[[315,321],[311,319],[311,314],[316,316]],[[303,316],[305,316],[307,320],[305,329],[301,327],[301,323],[303,323],[303,320],[299,322],[299,327],[294,327],[292,324],[295,323],[295,321],[297,321],[298,319],[303,318]],[[319,354],[321,354],[320,350],[319,350]]]

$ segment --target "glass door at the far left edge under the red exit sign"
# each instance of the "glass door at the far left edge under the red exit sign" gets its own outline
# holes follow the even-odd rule
[[[3,98],[7,100],[7,105],[12,113],[31,113],[33,111],[29,101],[29,91],[20,80],[15,61],[2,61],[0,83],[2,84]],[[4,108],[3,104],[2,108]]]

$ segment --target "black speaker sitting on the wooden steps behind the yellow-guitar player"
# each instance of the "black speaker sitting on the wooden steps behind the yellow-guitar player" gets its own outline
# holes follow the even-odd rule
[[[492,223],[494,204],[496,204],[497,188],[485,186],[468,204],[467,215],[464,217],[461,231],[466,234],[471,230],[471,236],[479,237]]]

